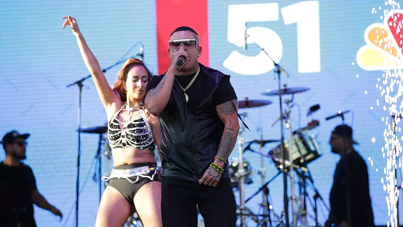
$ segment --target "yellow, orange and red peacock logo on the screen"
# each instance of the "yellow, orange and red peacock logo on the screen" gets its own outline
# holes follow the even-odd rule
[[[365,46],[357,64],[365,70],[403,69],[403,10],[392,10],[384,23],[373,23],[364,33]]]

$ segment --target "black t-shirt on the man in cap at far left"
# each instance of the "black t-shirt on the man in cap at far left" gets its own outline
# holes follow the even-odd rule
[[[33,191],[36,190],[32,169],[21,163],[7,166],[0,162],[0,225],[36,227],[33,216]]]

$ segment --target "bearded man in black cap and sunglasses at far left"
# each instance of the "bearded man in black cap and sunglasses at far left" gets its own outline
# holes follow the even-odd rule
[[[36,227],[33,204],[62,218],[62,212],[50,205],[36,188],[35,176],[24,160],[25,139],[29,134],[8,132],[3,137],[6,159],[0,162],[0,226]]]

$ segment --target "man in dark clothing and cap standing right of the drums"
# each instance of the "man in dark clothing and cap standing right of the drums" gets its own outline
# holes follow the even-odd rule
[[[345,147],[343,146],[343,134],[345,135]],[[341,159],[334,170],[333,185],[330,191],[331,211],[325,226],[330,227],[334,223],[347,227],[348,186],[351,227],[373,227],[374,214],[371,206],[367,165],[359,153],[354,150],[353,144],[357,144],[357,142],[353,140],[351,127],[339,125],[334,128],[329,144],[332,147],[332,153],[340,155]],[[346,185],[347,176],[348,185]]]

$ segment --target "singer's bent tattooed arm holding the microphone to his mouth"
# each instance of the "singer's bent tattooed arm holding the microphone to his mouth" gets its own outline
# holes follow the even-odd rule
[[[176,63],[178,61],[179,56],[184,56],[186,58],[189,55],[185,50],[180,49],[176,53],[173,53],[173,57],[171,58],[171,65],[166,71],[164,78],[160,81],[158,86],[154,89],[151,89],[144,101],[145,107],[147,110],[154,116],[160,115],[160,113],[164,110],[166,104],[168,103],[169,97],[171,95],[172,85],[174,83],[175,73],[181,69],[181,66],[178,66]]]

